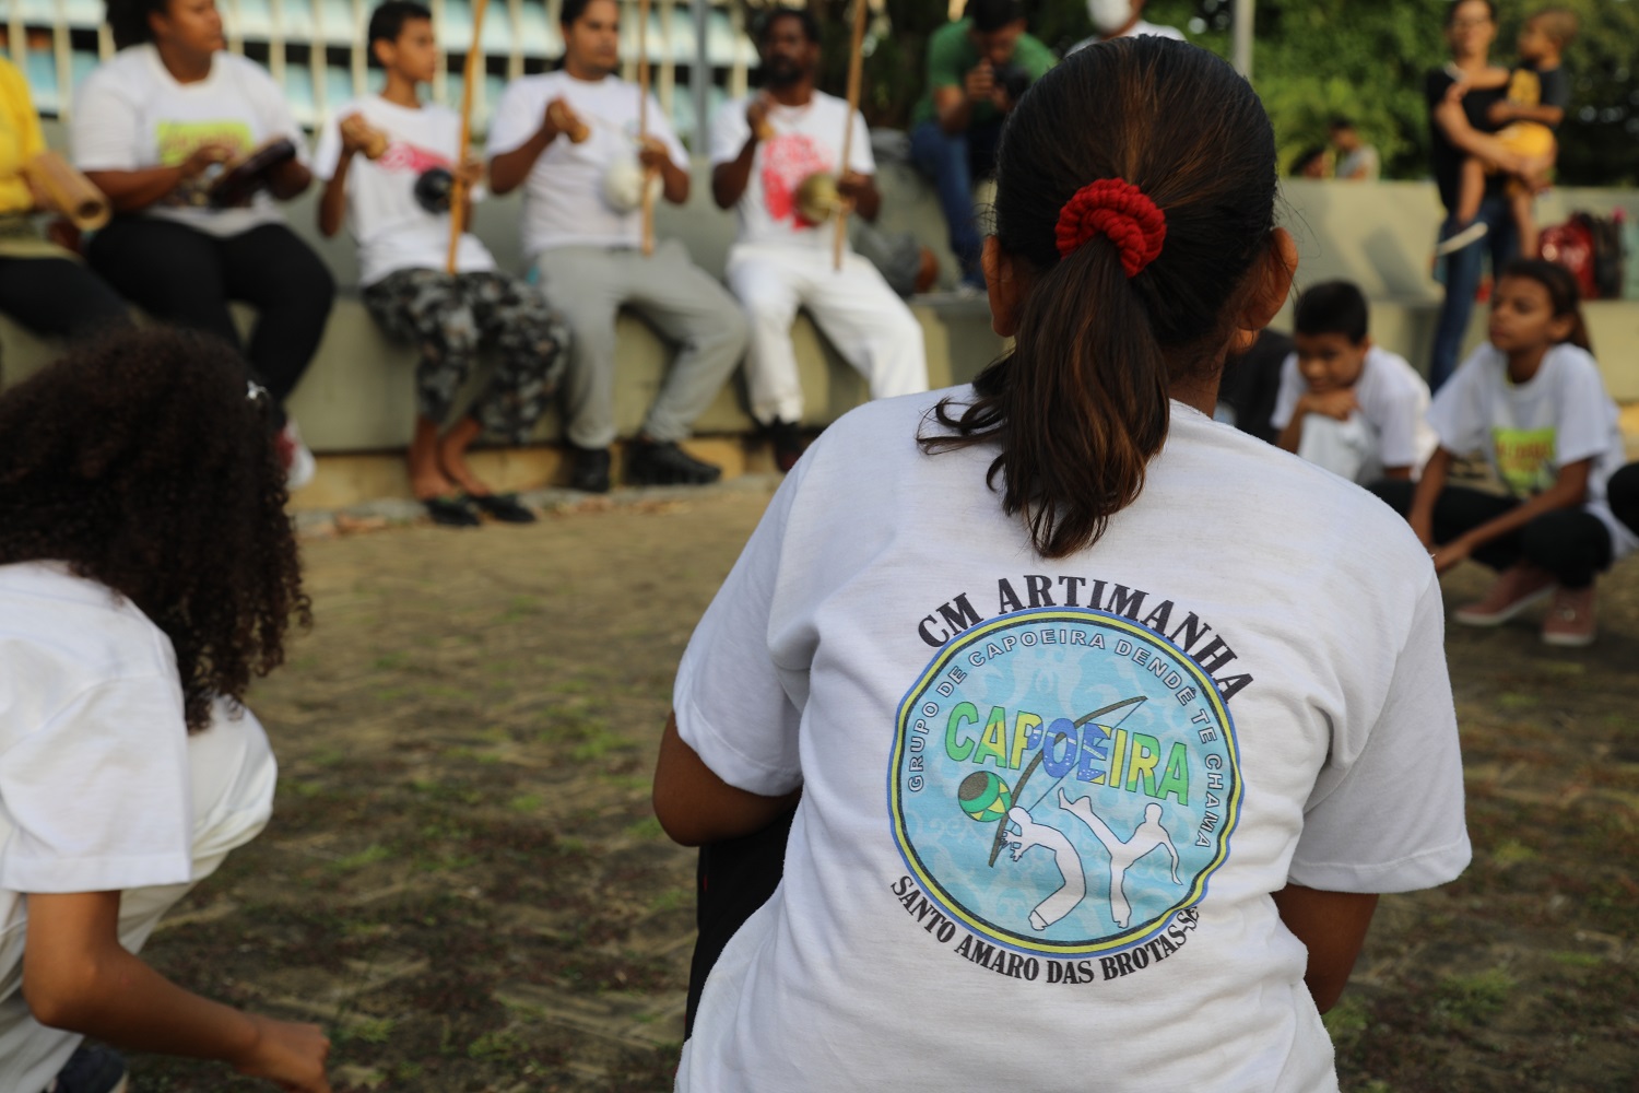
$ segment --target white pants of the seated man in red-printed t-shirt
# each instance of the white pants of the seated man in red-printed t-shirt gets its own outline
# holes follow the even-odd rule
[[[803,418],[792,351],[792,320],[800,306],[865,377],[872,398],[928,390],[921,324],[877,267],[857,254],[844,254],[838,270],[829,247],[736,246],[726,277],[751,320],[746,385],[751,415],[762,424]]]

